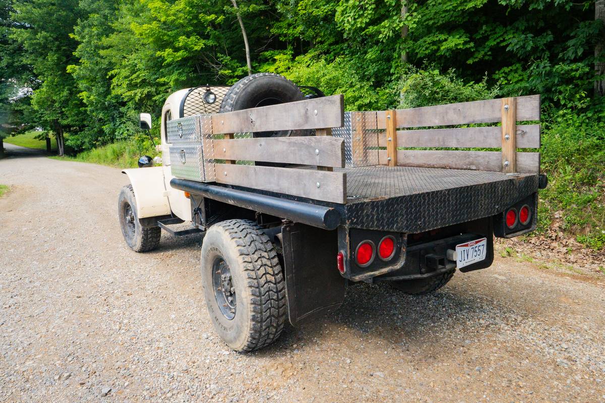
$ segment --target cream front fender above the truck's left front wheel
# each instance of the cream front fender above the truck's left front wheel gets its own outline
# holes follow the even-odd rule
[[[157,217],[171,214],[162,166],[124,169],[137,202],[137,217]]]

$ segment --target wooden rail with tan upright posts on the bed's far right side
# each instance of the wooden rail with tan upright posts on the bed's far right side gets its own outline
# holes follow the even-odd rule
[[[367,166],[368,160],[376,158],[379,164],[388,166],[479,169],[506,173],[540,172],[539,153],[517,152],[517,148],[540,148],[540,125],[517,126],[519,120],[540,119],[539,95],[406,110],[359,112],[352,114],[352,122],[354,117],[361,117],[364,121],[363,128],[352,130],[352,159],[355,166]],[[375,125],[373,122],[376,122]],[[471,128],[412,129],[496,122],[502,124]],[[367,144],[372,142],[377,143],[376,146],[368,147]],[[421,151],[398,150],[398,147],[500,148],[502,151]]]

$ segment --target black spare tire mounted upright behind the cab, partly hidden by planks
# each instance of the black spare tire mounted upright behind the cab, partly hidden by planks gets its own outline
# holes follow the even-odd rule
[[[258,106],[304,100],[301,90],[286,77],[273,73],[257,73],[244,77],[229,88],[221,103],[220,113]],[[254,137],[309,136],[309,130],[280,130],[254,133]]]

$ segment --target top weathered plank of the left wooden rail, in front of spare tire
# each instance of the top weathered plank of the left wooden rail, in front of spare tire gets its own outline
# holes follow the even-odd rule
[[[342,95],[212,115],[214,134],[341,127]]]

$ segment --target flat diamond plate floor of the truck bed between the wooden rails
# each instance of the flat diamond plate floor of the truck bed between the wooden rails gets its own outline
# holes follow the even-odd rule
[[[347,203],[417,195],[531,176],[409,166],[366,166],[335,171],[347,173]]]

